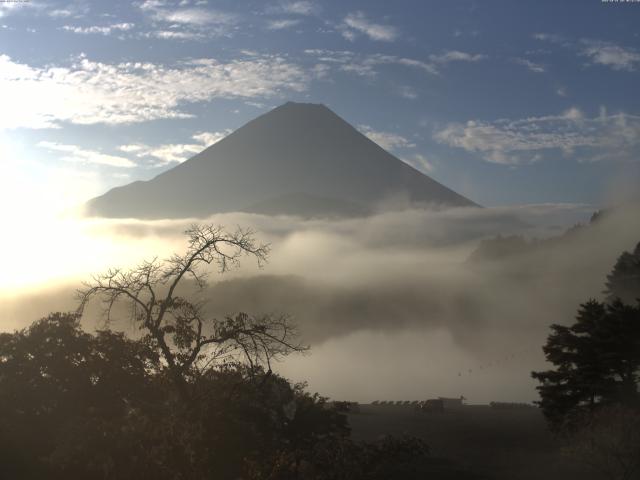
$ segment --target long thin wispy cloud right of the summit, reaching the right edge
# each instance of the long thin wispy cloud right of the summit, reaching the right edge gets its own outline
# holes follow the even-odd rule
[[[561,115],[494,122],[452,123],[434,134],[436,141],[488,162],[506,165],[532,163],[565,156],[579,161],[637,161],[640,116],[606,111],[585,117],[577,108]]]

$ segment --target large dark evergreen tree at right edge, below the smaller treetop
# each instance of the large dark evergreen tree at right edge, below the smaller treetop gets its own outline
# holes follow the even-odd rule
[[[571,430],[604,405],[637,405],[640,306],[590,300],[573,325],[551,330],[543,350],[555,368],[532,375],[541,382],[538,403],[554,430]]]

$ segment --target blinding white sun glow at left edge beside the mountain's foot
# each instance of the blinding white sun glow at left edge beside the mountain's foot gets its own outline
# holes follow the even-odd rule
[[[22,160],[20,145],[2,135],[0,158],[3,296],[127,266],[161,248],[152,238],[116,237],[102,228],[105,221],[82,217],[78,205],[100,193],[95,176]]]

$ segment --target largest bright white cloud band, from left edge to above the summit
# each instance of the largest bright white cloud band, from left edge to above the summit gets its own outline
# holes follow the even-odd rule
[[[229,62],[193,59],[170,66],[80,57],[68,66],[45,67],[0,55],[0,129],[188,118],[188,104],[270,98],[304,91],[308,82],[301,67],[271,55]]]

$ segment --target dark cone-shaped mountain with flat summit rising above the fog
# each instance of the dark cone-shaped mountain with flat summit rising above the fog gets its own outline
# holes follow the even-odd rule
[[[289,102],[152,180],[90,200],[87,212],[137,218],[230,211],[352,216],[390,198],[401,198],[404,205],[475,205],[324,105]]]

